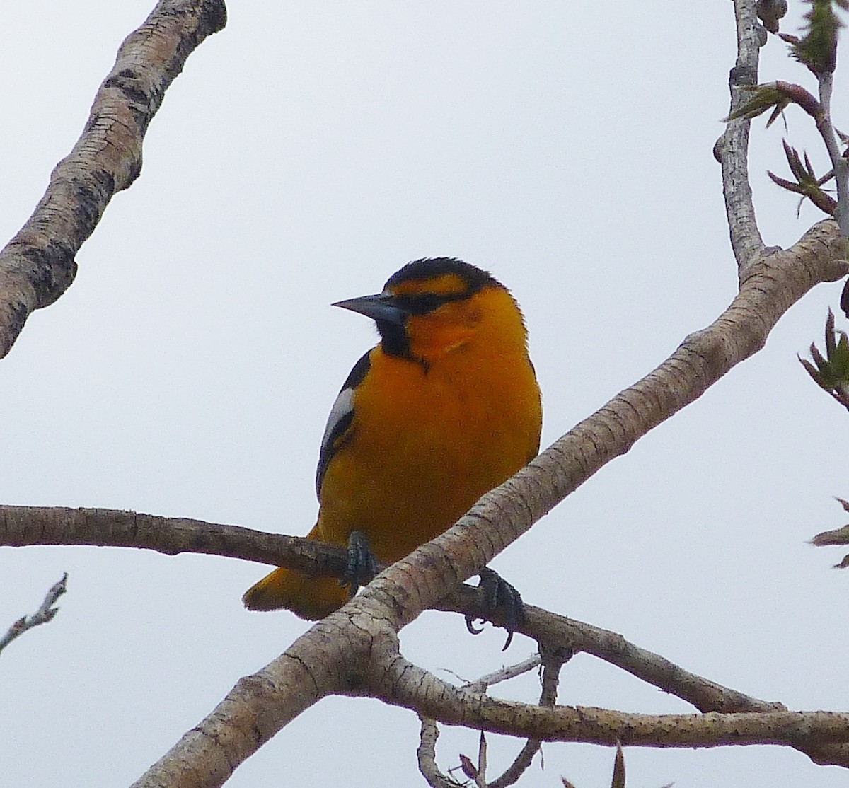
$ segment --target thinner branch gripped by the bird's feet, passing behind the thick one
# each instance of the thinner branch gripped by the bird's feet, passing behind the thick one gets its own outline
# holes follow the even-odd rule
[[[36,544],[142,548],[168,555],[212,554],[336,577],[342,577],[346,567],[344,548],[239,526],[111,509],[0,506],[0,546]],[[475,618],[488,612],[481,607],[477,589],[469,586],[462,586],[434,607]],[[664,657],[630,643],[621,634],[533,605],[526,605],[526,621],[517,631],[551,650],[584,651],[597,656],[692,703],[701,712],[784,709],[780,703],[759,701],[689,673]],[[501,676],[499,672],[498,678]],[[488,682],[490,678],[483,677],[479,682],[485,679]],[[475,684],[475,689],[485,687]]]

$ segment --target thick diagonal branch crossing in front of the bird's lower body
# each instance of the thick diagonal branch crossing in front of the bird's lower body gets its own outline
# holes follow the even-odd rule
[[[849,270],[846,241],[834,222],[815,225],[791,250],[762,256],[742,281],[739,295],[714,324],[689,335],[660,367],[611,400],[554,443],[528,467],[487,493],[457,526],[382,572],[363,592],[297,639],[286,653],[245,679],[199,725],[136,784],[198,785],[193,769],[208,758],[235,768],[297,712],[284,691],[297,681],[311,690],[301,710],[340,690],[346,678],[362,677],[379,655],[396,653],[396,631],[470,577],[533,522],[590,476],[633,446],[654,426],[699,397],[736,363],[762,347],[779,317],[814,284],[840,279]],[[319,676],[321,680],[316,680]],[[261,735],[222,735],[241,729],[256,710]],[[261,713],[260,713],[261,712]],[[430,712],[426,712],[430,713]],[[776,712],[789,713],[789,712]],[[431,715],[438,716],[438,715]],[[249,722],[250,724],[250,722]],[[201,785],[221,785],[226,775]]]

